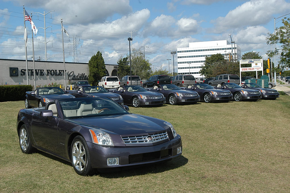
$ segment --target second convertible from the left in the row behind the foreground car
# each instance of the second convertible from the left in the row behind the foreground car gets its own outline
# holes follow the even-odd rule
[[[75,96],[76,98],[80,97],[108,97],[113,101],[123,105],[124,101],[121,95],[116,93],[110,93],[102,86],[82,86],[79,90],[67,90],[68,94]]]

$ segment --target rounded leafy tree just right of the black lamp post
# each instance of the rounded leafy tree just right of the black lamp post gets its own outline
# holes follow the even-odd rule
[[[129,57],[127,55],[127,57]],[[132,49],[131,52],[131,71],[132,75],[138,75],[141,79],[147,79],[152,73],[151,63],[145,59],[144,54],[139,49]]]

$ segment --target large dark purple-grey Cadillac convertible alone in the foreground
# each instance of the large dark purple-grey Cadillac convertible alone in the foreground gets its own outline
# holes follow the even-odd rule
[[[182,141],[171,123],[129,113],[108,98],[59,99],[21,109],[17,133],[23,153],[33,148],[71,162],[79,175],[171,160]]]

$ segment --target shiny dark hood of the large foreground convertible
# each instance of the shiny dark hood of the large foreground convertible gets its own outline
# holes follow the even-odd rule
[[[140,135],[165,130],[163,127],[149,119],[150,118],[146,118],[145,116],[127,114],[117,116],[77,118],[70,119],[70,121],[88,127],[99,127],[119,135]],[[161,120],[158,120],[157,122],[160,121]],[[166,127],[165,124],[164,127]]]

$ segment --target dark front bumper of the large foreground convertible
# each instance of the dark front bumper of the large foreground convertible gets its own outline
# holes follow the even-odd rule
[[[155,163],[176,156],[177,147],[182,147],[180,135],[172,140],[154,146],[110,147],[87,142],[93,168],[114,168]],[[119,165],[107,165],[107,158],[119,158]]]

